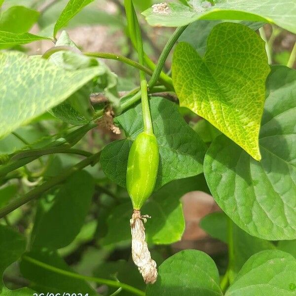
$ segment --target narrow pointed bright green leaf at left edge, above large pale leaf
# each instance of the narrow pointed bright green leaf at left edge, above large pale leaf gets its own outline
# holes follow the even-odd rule
[[[37,36],[31,33],[11,33],[0,31],[0,45],[16,45],[16,44],[27,44],[37,40],[51,40],[47,37]],[[3,53],[1,53],[2,55]]]

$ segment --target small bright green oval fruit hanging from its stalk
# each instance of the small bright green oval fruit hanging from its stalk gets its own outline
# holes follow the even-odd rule
[[[126,187],[135,210],[141,209],[154,189],[158,162],[156,137],[142,132],[131,147],[126,171]]]

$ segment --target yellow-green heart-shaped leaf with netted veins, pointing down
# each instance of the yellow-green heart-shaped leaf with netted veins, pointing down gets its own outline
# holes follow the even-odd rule
[[[214,27],[203,59],[184,42],[174,51],[172,77],[180,106],[207,119],[257,160],[268,73],[263,40],[240,24]]]

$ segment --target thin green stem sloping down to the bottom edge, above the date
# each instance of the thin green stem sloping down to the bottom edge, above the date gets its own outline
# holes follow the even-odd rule
[[[35,265],[38,265],[39,267],[42,267],[44,269],[50,270],[50,271],[55,272],[55,273],[59,273],[61,275],[65,275],[65,276],[72,277],[72,278],[79,279],[79,280],[85,280],[85,281],[94,282],[94,283],[98,283],[98,284],[102,284],[102,285],[107,285],[107,286],[110,286],[110,287],[122,288],[123,290],[131,292],[131,293],[133,293],[135,295],[145,296],[145,293],[143,291],[141,291],[141,290],[139,290],[139,289],[137,289],[137,288],[135,288],[133,286],[124,284],[124,283],[120,283],[120,282],[112,281],[112,280],[108,280],[108,279],[102,279],[102,278],[77,274],[77,273],[74,273],[74,272],[71,272],[71,271],[60,269],[58,267],[49,265],[49,264],[44,263],[44,262],[41,262],[41,261],[39,261],[37,259],[34,259],[34,258],[31,258],[31,257],[29,257],[27,255],[24,255],[22,258],[24,260],[27,260],[27,261],[35,264]]]

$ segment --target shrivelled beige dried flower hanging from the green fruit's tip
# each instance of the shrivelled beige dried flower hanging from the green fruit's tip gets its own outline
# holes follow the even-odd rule
[[[132,258],[138,266],[146,284],[153,284],[157,279],[156,262],[151,259],[145,236],[144,222],[147,222],[147,215],[141,216],[139,210],[134,210],[130,220],[132,232]],[[143,221],[142,221],[143,220]]]

